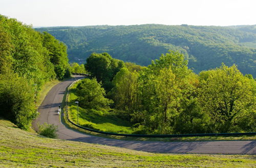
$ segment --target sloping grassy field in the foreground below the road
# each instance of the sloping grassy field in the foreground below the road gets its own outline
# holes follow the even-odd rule
[[[0,167],[255,167],[255,155],[155,154],[47,138],[0,119]]]

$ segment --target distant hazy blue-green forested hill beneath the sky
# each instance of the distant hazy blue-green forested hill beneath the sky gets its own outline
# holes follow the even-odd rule
[[[238,65],[256,76],[256,25],[192,26],[129,25],[44,27],[68,46],[69,60],[84,63],[93,52],[108,52],[113,58],[148,65],[169,49],[179,50],[195,72]]]

